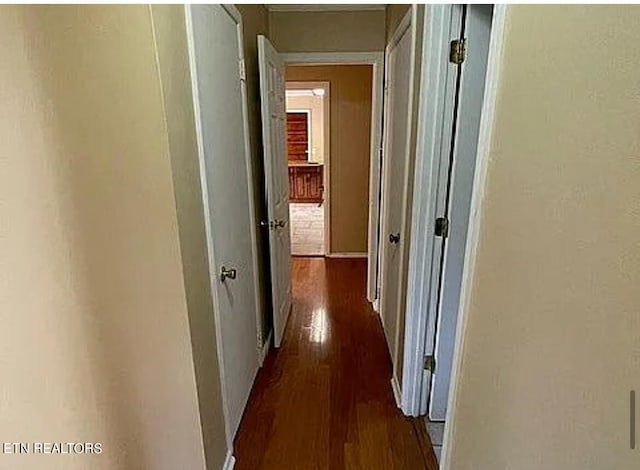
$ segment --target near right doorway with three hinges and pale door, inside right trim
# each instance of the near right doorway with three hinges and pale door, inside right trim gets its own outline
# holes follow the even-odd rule
[[[492,5],[434,5],[425,22],[422,80],[427,86],[420,96],[415,172],[423,184],[416,186],[411,222],[414,229],[424,229],[413,231],[408,267],[409,283],[418,287],[407,291],[402,407],[405,414],[425,417],[434,451],[445,462],[457,386],[458,317],[482,177],[479,148],[492,119],[494,97],[485,85],[491,91],[495,83],[495,47],[502,31],[494,19]],[[473,49],[466,50],[467,43]],[[456,48],[459,55],[452,53]]]

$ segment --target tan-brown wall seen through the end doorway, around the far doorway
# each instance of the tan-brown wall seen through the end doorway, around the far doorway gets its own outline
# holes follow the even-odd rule
[[[372,66],[287,67],[287,81],[330,83],[331,251],[366,253]]]

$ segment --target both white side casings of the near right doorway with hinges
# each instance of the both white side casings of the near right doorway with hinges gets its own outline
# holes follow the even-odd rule
[[[433,136],[441,129],[442,120],[432,116],[435,93],[444,93],[442,87],[445,79],[438,64],[444,54],[448,54],[448,29],[443,27],[447,9],[450,5],[429,5],[425,15],[425,36],[423,48],[423,64],[420,92],[421,123],[418,132],[415,180],[423,184],[415,185],[412,212],[412,241],[409,263],[409,288],[407,292],[407,312],[405,323],[405,350],[403,369],[403,389],[401,408],[408,416],[420,415],[420,397],[424,377],[424,351],[427,325],[428,305],[431,296],[431,251],[435,229],[434,207],[431,207],[437,191],[438,172],[435,162],[439,159],[440,148],[434,144]],[[480,120],[480,134],[475,163],[475,174],[472,188],[471,211],[469,216],[468,235],[466,241],[463,279],[460,292],[460,306],[454,343],[453,366],[451,370],[451,386],[447,406],[447,418],[444,429],[441,468],[451,467],[451,443],[455,430],[452,422],[456,413],[462,350],[467,323],[467,311],[470,304],[473,285],[476,249],[479,239],[479,226],[482,199],[487,179],[487,164],[491,145],[491,136],[495,119],[495,105],[500,78],[501,52],[505,31],[506,5],[494,5],[489,57],[485,91]]]

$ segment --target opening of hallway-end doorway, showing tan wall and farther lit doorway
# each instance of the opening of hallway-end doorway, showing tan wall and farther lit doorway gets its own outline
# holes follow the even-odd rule
[[[296,56],[283,54],[291,254],[366,259],[373,65]]]

